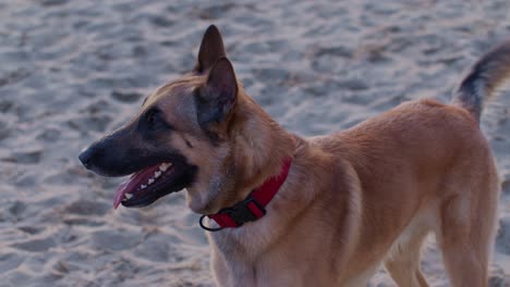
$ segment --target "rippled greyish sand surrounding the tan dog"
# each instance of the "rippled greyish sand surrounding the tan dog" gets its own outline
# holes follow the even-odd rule
[[[246,90],[303,136],[406,100],[448,101],[469,65],[510,35],[494,1],[0,0],[0,286],[212,286],[183,194],[111,207],[120,179],[80,150],[194,64],[217,24]],[[490,286],[510,286],[510,92],[485,112],[503,192]],[[434,238],[423,269],[449,286]],[[371,286],[394,286],[381,270]]]

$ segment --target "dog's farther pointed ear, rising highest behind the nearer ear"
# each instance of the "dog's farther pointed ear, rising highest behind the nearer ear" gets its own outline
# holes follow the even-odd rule
[[[215,25],[210,25],[202,39],[195,71],[198,73],[206,72],[221,57],[226,57],[221,34]]]

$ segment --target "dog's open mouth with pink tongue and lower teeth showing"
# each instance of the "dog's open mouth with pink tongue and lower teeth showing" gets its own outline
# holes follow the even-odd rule
[[[163,162],[132,174],[117,189],[113,207],[149,205],[168,194],[179,191],[193,182],[194,167]]]

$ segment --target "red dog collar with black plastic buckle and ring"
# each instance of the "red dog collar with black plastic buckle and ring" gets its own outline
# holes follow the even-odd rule
[[[222,209],[216,214],[202,215],[201,227],[208,232],[218,232],[226,227],[240,227],[246,222],[256,221],[266,214],[266,207],[280,189],[289,175],[292,159],[283,161],[279,175],[267,179],[260,187],[254,189],[247,198],[231,208]],[[210,228],[204,225],[204,219],[214,220],[220,227]]]

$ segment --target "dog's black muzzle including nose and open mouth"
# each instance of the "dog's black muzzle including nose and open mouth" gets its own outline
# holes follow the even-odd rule
[[[198,170],[179,151],[162,145],[163,133],[171,130],[147,126],[142,117],[93,144],[78,158],[85,167],[102,176],[132,174],[119,187],[114,205],[145,207],[191,186]]]

